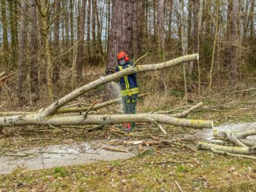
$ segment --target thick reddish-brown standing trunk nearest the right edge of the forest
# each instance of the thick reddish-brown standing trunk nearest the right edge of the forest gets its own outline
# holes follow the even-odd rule
[[[237,20],[238,20],[238,6],[239,0],[232,0],[232,12],[230,16],[230,37],[229,42],[232,43],[232,46],[229,49],[229,67],[230,67],[230,81],[232,85],[237,81],[237,67],[238,60],[236,58],[237,45],[239,45],[239,39],[237,38]]]

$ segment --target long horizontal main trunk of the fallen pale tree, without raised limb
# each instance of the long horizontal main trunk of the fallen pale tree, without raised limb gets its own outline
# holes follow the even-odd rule
[[[51,118],[41,120],[36,114],[16,115],[0,118],[0,127],[13,125],[83,125],[83,124],[107,124],[113,125],[124,122],[152,122],[170,125],[192,127],[196,129],[213,128],[213,121],[192,120],[185,118],[174,118],[167,114],[88,114],[73,116],[55,115]]]

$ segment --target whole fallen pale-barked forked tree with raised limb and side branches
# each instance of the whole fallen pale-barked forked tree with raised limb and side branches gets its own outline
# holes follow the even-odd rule
[[[126,76],[128,74],[140,73],[144,71],[159,71],[169,67],[177,66],[181,63],[187,63],[192,60],[198,60],[198,54],[191,54],[187,56],[181,56],[174,60],[166,61],[164,63],[149,64],[149,65],[133,65],[133,67],[126,68],[123,71],[119,71],[115,74],[109,74],[107,76],[101,77],[94,82],[90,82],[87,85],[75,89],[68,95],[60,98],[56,102],[52,103],[49,107],[45,109],[38,110],[36,112],[29,113],[16,113],[10,112],[4,114],[0,117],[0,128],[1,127],[13,127],[16,125],[114,125],[124,122],[152,122],[155,124],[165,123],[170,125],[192,127],[196,129],[202,128],[213,128],[213,121],[204,120],[192,120],[184,118],[189,112],[200,107],[202,103],[199,103],[195,107],[192,107],[181,114],[159,114],[159,113],[143,113],[143,114],[93,114],[92,110],[97,110],[98,108],[105,106],[106,103],[93,103],[86,107],[67,107],[67,104],[72,100],[82,94],[89,92],[101,85],[105,85],[108,82],[113,82]],[[109,103],[119,102],[120,99],[108,101]],[[108,103],[107,102],[107,103]],[[71,114],[73,112],[80,112],[79,115]],[[63,113],[66,113],[63,115]],[[67,114],[68,113],[68,114]],[[162,126],[159,125],[165,134]]]

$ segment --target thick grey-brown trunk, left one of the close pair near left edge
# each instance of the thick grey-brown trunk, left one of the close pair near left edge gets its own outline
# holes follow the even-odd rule
[[[22,11],[20,13],[20,31],[19,31],[19,62],[18,62],[18,82],[17,94],[19,105],[23,106],[27,103],[26,96],[23,92],[24,85],[26,84],[27,68],[26,68],[26,44],[27,44],[27,3],[21,0]],[[24,13],[26,12],[26,13]]]

